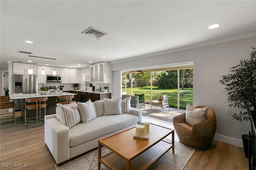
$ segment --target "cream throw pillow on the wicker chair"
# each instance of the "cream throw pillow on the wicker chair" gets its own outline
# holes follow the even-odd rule
[[[196,123],[200,123],[206,120],[206,111],[207,107],[204,108],[196,108],[191,106],[189,103],[186,107],[186,123],[192,126]]]

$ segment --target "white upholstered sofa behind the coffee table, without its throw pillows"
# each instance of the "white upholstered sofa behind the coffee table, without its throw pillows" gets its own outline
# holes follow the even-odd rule
[[[56,114],[45,116],[44,141],[58,166],[97,148],[98,140],[104,136],[133,127],[142,121],[142,111],[139,109],[131,108],[131,114],[103,116],[104,101],[92,104],[96,118],[71,128],[60,123]]]

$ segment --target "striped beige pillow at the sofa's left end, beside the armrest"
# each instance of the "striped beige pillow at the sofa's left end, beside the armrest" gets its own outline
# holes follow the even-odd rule
[[[58,115],[60,118],[60,123],[68,128],[72,128],[74,125],[81,122],[81,117],[77,106],[75,105],[62,105],[57,103]]]

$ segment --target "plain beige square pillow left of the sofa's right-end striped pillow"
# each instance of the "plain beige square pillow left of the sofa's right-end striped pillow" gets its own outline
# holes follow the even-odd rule
[[[121,115],[122,110],[121,110],[121,101],[122,97],[118,99],[104,99],[104,114],[103,116],[106,115]]]

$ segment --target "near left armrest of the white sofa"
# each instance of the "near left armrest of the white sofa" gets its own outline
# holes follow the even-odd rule
[[[70,159],[70,129],[57,119],[45,120],[44,142],[57,164]]]

